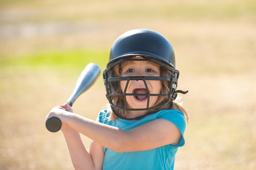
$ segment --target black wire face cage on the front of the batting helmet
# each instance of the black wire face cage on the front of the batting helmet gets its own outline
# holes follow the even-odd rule
[[[160,66],[161,72],[164,73],[169,73],[166,75],[161,75],[161,77],[149,77],[149,76],[136,76],[136,77],[120,77],[118,73],[115,71],[115,66],[119,67],[119,64],[121,62],[126,62],[126,61],[150,61],[153,62],[151,58],[143,57],[143,59],[135,59],[133,56],[126,57],[125,60],[117,60],[116,63],[112,63],[110,66],[106,68],[106,70],[103,72],[103,79],[104,79],[104,84],[106,88],[106,96],[108,98],[108,101],[110,102],[110,106],[113,108],[118,108],[118,109],[123,109],[123,110],[152,110],[155,108],[159,108],[161,106],[164,106],[170,100],[173,100],[175,97],[175,91],[177,88],[177,80],[179,76],[179,71],[177,71],[175,68],[171,68],[168,66],[164,66],[163,63],[162,66]],[[159,61],[155,61],[154,63],[159,64]],[[168,70],[167,70],[168,68]],[[165,71],[163,71],[165,70]],[[126,82],[126,88],[129,84],[130,81],[137,81],[137,80],[142,80],[144,82],[144,85],[146,87],[147,93],[145,94],[133,94],[133,93],[126,93],[126,90],[124,92],[121,91],[120,87],[120,82],[121,81],[127,81]],[[148,90],[148,85],[146,83],[147,80],[151,81],[161,81],[162,83],[162,88],[167,88],[168,90],[165,91],[164,93],[160,94],[150,94]],[[171,89],[171,90],[170,90]],[[127,103],[126,103],[126,96],[147,96],[147,106],[145,108],[128,108]],[[164,103],[161,102],[159,105],[154,105],[152,107],[149,107],[149,100],[151,96],[158,96],[158,97],[164,97]],[[117,98],[122,98],[123,99],[123,105],[119,106],[115,104],[115,100]]]

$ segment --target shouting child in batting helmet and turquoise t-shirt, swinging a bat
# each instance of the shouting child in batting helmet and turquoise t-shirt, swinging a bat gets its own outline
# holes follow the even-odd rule
[[[67,104],[46,118],[61,119],[76,170],[172,170],[189,120],[174,102],[179,71],[171,44],[148,29],[128,31],[114,42],[103,71],[109,107],[97,121]],[[86,149],[79,132],[92,139]]]

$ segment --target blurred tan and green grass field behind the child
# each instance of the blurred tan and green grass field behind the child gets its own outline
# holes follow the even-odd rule
[[[0,170],[72,170],[45,116],[69,97],[86,64],[104,69],[115,39],[153,29],[170,40],[190,114],[175,170],[256,169],[254,0],[1,0]],[[102,77],[77,99],[96,119]],[[90,139],[83,137],[86,147]]]

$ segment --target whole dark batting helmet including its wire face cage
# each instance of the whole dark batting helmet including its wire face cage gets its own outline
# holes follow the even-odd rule
[[[120,77],[120,74],[116,72],[120,70],[120,64],[127,61],[148,61],[158,64],[161,77]],[[161,34],[147,29],[131,30],[119,36],[112,45],[109,62],[105,71],[103,71],[106,97],[114,113],[114,110],[118,109],[154,110],[172,102],[177,96],[178,77],[179,71],[175,69],[175,55],[170,42]],[[140,96],[147,96],[147,106],[145,108],[128,108],[126,97],[131,95],[136,97],[138,95],[126,93],[126,90],[121,91],[120,81],[127,81],[127,88],[129,82],[135,80],[142,80],[145,84],[147,93],[139,94]],[[150,94],[146,84],[147,80],[161,81],[162,92],[160,94]],[[158,96],[162,101],[150,107],[149,100],[152,96]],[[117,114],[115,113],[115,115]]]

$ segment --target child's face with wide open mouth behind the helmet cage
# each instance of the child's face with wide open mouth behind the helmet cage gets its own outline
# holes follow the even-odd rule
[[[153,76],[160,77],[160,66],[153,62],[148,61],[131,61],[125,62],[121,72],[121,77],[134,77],[134,76]],[[127,81],[121,81],[121,90],[124,93]],[[161,93],[161,81],[146,80],[150,94]],[[126,93],[133,94],[147,94],[146,86],[143,80],[130,80]],[[158,96],[150,96],[149,107],[152,107],[157,101]],[[126,96],[128,108],[146,108],[148,98],[147,96]]]

